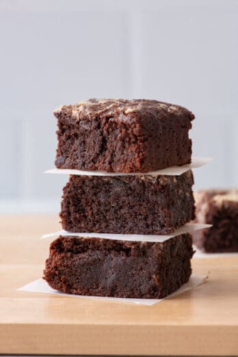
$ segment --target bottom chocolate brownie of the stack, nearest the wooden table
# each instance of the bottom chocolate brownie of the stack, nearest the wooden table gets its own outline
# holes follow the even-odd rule
[[[189,280],[193,253],[189,234],[163,243],[60,236],[44,279],[64,293],[159,299]]]

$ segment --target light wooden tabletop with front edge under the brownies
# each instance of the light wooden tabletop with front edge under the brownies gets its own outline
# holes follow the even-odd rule
[[[55,216],[0,216],[0,354],[238,355],[238,258],[194,259],[209,280],[154,306],[16,291],[42,276]]]

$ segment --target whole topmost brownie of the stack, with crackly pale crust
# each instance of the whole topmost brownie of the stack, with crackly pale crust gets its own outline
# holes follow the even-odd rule
[[[54,115],[57,168],[150,172],[191,162],[194,114],[178,105],[90,99],[63,105]]]

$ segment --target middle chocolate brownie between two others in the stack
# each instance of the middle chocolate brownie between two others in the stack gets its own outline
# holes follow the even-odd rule
[[[180,176],[70,176],[62,226],[69,232],[160,235],[194,219],[191,171]]]

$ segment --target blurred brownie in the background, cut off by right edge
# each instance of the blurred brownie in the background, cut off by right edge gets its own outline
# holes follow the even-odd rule
[[[196,194],[196,222],[213,224],[192,233],[204,252],[238,252],[238,189],[208,189]]]

